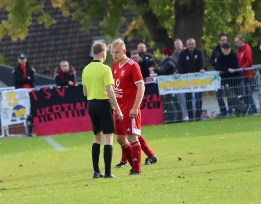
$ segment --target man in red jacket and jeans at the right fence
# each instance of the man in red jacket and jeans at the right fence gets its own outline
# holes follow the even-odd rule
[[[241,68],[252,67],[253,65],[253,54],[252,49],[249,44],[245,43],[245,37],[238,35],[235,37],[235,45],[238,48],[237,57],[240,62]],[[243,71],[243,82],[244,82],[244,94],[245,94],[245,103],[250,105],[250,113],[256,114],[255,101],[253,99],[253,71]]]

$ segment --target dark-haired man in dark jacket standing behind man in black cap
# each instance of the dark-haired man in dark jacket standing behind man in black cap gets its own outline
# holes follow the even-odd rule
[[[221,46],[224,43],[227,43],[227,35],[220,34],[219,44],[214,48],[213,53],[210,57],[210,64],[215,68],[215,70],[216,70],[216,60],[217,60],[217,57],[219,57],[219,55],[222,54]],[[222,75],[222,73],[221,73],[221,75]],[[221,80],[221,86],[224,87],[223,80]],[[223,88],[217,89],[217,91],[215,92],[215,95],[216,95],[216,98],[217,98],[217,102],[219,103],[220,112],[221,112],[219,117],[226,117],[228,115],[228,111],[227,111],[227,108],[226,108],[224,98],[222,96],[223,95]],[[229,101],[228,101],[228,107],[229,107],[229,109],[228,109],[229,115],[231,115],[232,114],[232,108],[229,104]]]

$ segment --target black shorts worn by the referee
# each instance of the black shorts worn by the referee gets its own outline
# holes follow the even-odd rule
[[[114,109],[109,99],[89,100],[88,112],[91,117],[93,133],[110,134],[115,132]]]

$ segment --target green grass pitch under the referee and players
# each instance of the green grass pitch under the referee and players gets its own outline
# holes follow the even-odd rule
[[[255,116],[144,126],[159,162],[139,176],[113,169],[114,180],[92,179],[92,133],[52,137],[66,151],[43,137],[2,139],[0,203],[260,203],[260,124]],[[113,165],[120,157],[115,141]]]

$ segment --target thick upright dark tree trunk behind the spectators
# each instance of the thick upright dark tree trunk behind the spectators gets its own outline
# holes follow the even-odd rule
[[[180,5],[175,1],[175,38],[184,45],[188,38],[194,38],[197,47],[201,47],[204,27],[204,0],[191,0],[191,3]]]

